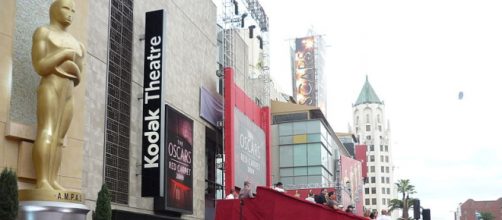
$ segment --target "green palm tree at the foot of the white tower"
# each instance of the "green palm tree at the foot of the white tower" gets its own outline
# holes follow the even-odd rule
[[[408,210],[413,206],[415,199],[410,198],[411,194],[416,193],[415,186],[410,184],[410,180],[398,180],[396,183],[397,191],[402,194],[403,199],[393,199],[389,204],[389,212],[396,209],[403,210],[401,219],[409,219]]]

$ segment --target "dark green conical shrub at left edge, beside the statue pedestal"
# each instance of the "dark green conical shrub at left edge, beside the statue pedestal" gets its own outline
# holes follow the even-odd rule
[[[18,209],[16,173],[11,169],[4,169],[0,174],[0,219],[16,219]]]

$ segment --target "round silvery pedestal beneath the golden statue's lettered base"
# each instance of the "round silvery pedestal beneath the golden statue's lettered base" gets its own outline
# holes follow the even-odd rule
[[[86,220],[89,209],[79,203],[21,201],[19,220]]]

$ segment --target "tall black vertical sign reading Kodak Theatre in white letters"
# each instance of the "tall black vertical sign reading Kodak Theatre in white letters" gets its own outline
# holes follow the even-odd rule
[[[146,13],[141,196],[164,196],[164,10]]]

